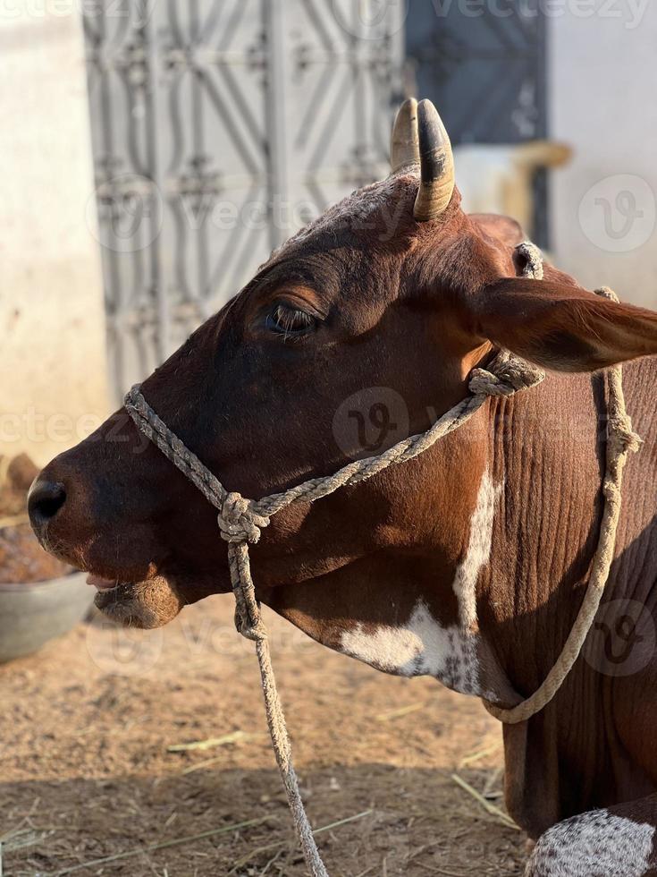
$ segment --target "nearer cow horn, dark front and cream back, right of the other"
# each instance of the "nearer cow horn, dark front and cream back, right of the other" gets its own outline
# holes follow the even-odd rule
[[[442,214],[454,191],[454,158],[451,142],[438,111],[430,100],[417,105],[417,136],[420,147],[420,187],[413,216],[418,222]]]

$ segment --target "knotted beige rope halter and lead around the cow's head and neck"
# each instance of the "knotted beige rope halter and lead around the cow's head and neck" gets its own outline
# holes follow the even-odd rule
[[[520,244],[517,253],[518,257],[524,260],[523,274],[526,277],[541,279],[543,277],[543,260],[540,251],[534,244],[528,242]],[[611,291],[601,291],[601,294],[606,294],[608,297],[613,295]],[[313,877],[328,877],[328,874],[319,856],[313,832],[307,820],[299,792],[299,782],[292,765],[290,737],[285,725],[282,703],[276,689],[267,633],[251,577],[248,545],[258,541],[260,532],[268,526],[271,516],[281,511],[282,508],[290,506],[294,502],[314,502],[341,487],[358,484],[360,481],[372,478],[389,466],[412,460],[433,447],[439,438],[443,438],[463,426],[481,408],[488,396],[513,396],[526,387],[534,387],[544,377],[543,371],[535,369],[529,363],[519,360],[506,351],[501,351],[488,369],[473,370],[468,382],[471,395],[443,414],[429,430],[402,439],[379,456],[367,457],[347,464],[333,475],[308,479],[290,490],[257,501],[244,498],[239,493],[228,493],[224,490],[223,485],[216,479],[215,475],[206,469],[206,466],[189,448],[183,445],[180,438],[169,430],[164,421],[147,404],[139,386],[132,387],[125,397],[126,410],[139,430],[156,444],[163,454],[181,470],[181,473],[185,474],[201,491],[208,502],[212,503],[219,511],[217,517],[219,530],[223,540],[228,542],[231,582],[235,595],[235,623],[240,634],[256,643],[265,696],[265,712],[274,754],[307,866]],[[616,525],[618,524],[622,467],[628,450],[630,448],[636,449],[637,441],[625,413],[620,370],[613,370],[610,374],[608,466],[603,486],[605,510],[602,517],[600,543],[594,558],[594,572],[592,581],[589,583],[585,606],[580,611],[576,627],[573,628],[573,633],[569,637],[568,651],[564,650],[557,665],[552,668],[551,674],[539,690],[526,702],[518,704],[510,711],[487,704],[488,709],[504,721],[519,721],[522,719],[516,718],[517,715],[522,714],[523,718],[528,718],[528,715],[542,709],[542,706],[554,696],[577,658],[581,648],[579,641],[583,635],[585,636],[585,632],[591,625],[600,601],[597,592],[602,593],[604,581],[609,573]],[[592,596],[589,597],[589,594]],[[597,602],[594,602],[595,597],[597,597]],[[594,607],[593,612],[592,607]],[[573,657],[576,649],[577,654]],[[539,703],[541,705],[537,705]]]

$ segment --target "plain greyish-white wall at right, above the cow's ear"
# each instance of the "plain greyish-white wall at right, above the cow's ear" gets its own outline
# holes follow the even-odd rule
[[[552,250],[592,288],[657,308],[657,4],[564,0],[549,21]]]

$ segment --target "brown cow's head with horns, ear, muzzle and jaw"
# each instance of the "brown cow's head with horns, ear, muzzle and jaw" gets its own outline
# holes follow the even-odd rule
[[[657,352],[652,313],[553,269],[518,277],[518,226],[467,217],[459,200],[434,106],[407,101],[392,174],[274,251],[144,382],[148,403],[227,490],[260,498],[427,429],[495,345],[555,370]],[[410,464],[275,515],[252,550],[260,599],[329,644],[408,615],[421,592],[453,615],[485,418]],[[123,409],[46,466],[29,513],[46,549],[114,585],[97,603],[125,623],[159,626],[230,589],[215,509]]]

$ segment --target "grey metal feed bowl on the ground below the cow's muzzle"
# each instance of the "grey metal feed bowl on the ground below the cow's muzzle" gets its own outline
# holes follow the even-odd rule
[[[38,651],[88,612],[95,590],[86,573],[33,584],[0,584],[0,662]]]

